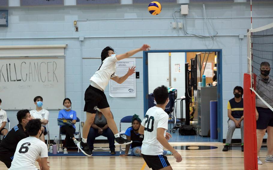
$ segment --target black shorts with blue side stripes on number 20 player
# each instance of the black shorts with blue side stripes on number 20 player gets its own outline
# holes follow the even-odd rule
[[[170,166],[167,157],[164,155],[143,155],[143,159],[152,170],[162,169]]]

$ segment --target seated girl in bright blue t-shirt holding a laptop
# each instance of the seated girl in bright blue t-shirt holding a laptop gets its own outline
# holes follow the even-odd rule
[[[59,111],[58,119],[72,119],[73,126],[63,125],[60,126],[61,133],[65,133],[65,144],[64,144],[64,154],[68,154],[67,152],[67,143],[70,138],[73,139],[75,145],[79,143],[75,136],[73,135],[76,131],[77,113],[74,110],[71,110],[71,100],[69,98],[65,98],[63,101],[64,109]]]

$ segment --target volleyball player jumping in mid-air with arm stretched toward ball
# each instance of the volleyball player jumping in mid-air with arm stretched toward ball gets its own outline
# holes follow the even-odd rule
[[[128,51],[125,54],[116,55],[114,49],[111,47],[106,47],[101,52],[101,66],[95,72],[95,74],[90,78],[90,85],[86,89],[84,94],[85,106],[84,111],[86,111],[86,121],[82,128],[82,141],[77,144],[78,148],[87,156],[92,155],[92,151],[87,145],[87,136],[92,125],[95,113],[99,109],[101,113],[107,119],[109,128],[115,134],[115,140],[117,145],[130,144],[131,140],[123,139],[119,136],[119,131],[113,116],[110,112],[110,107],[107,102],[107,98],[104,94],[104,90],[110,79],[116,81],[117,83],[123,83],[130,75],[134,74],[135,67],[129,68],[127,74],[119,77],[115,74],[116,72],[116,62],[125,58],[128,58],[137,52],[149,50],[150,46],[144,44],[141,48],[137,48]]]

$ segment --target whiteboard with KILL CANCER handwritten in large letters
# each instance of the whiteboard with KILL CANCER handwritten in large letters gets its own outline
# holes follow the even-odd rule
[[[64,58],[0,58],[0,98],[3,110],[63,109]]]

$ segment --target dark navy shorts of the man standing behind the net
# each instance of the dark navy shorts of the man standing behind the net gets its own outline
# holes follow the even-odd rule
[[[266,129],[268,126],[273,127],[273,111],[269,108],[256,107],[259,117],[256,121],[257,129]]]

